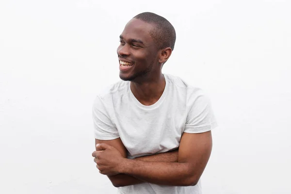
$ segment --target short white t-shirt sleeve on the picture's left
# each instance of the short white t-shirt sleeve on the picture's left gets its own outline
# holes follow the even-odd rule
[[[113,140],[119,137],[118,130],[113,125],[108,112],[100,97],[93,104],[94,134],[98,140]]]

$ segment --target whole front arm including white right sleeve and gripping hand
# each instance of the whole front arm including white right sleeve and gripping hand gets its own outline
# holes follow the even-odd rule
[[[100,144],[97,168],[104,175],[127,174],[145,182],[171,186],[195,185],[210,158],[211,129],[217,126],[210,101],[200,91],[189,96],[189,109],[182,134],[178,162],[145,162],[123,158],[113,146]]]

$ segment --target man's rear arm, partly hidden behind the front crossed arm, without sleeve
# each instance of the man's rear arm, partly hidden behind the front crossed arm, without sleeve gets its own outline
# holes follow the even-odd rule
[[[127,158],[127,149],[123,145],[122,141],[120,138],[114,139],[114,140],[97,140],[95,139],[95,145],[96,144],[101,144],[101,143],[106,143],[110,146],[113,146],[116,148],[123,158]],[[97,147],[96,150],[98,151]],[[151,161],[151,162],[178,162],[178,150],[174,151],[169,151],[165,153],[160,153],[160,154],[155,154],[155,155],[150,155],[150,156],[142,156],[139,158],[135,158],[134,160],[140,160],[140,161]],[[144,181],[134,178],[129,175],[125,174],[117,174],[113,176],[108,176],[110,181],[112,182],[114,187],[124,187],[124,186],[129,186],[129,185],[135,185],[135,184],[140,184]]]

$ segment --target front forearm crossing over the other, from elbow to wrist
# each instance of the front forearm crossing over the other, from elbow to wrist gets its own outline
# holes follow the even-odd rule
[[[187,162],[145,162],[125,159],[120,172],[160,185],[190,186],[198,181]]]

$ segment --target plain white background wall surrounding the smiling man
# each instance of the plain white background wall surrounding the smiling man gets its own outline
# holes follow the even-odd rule
[[[0,193],[113,194],[92,103],[119,81],[119,34],[154,12],[177,32],[163,73],[209,95],[204,194],[290,194],[290,0],[1,0]]]

